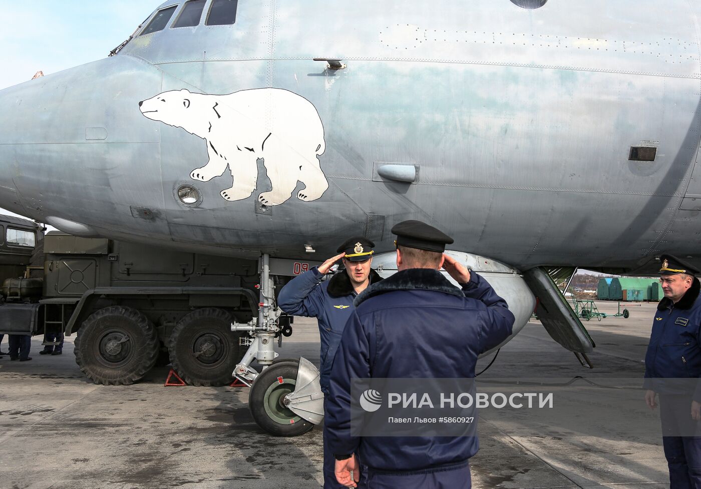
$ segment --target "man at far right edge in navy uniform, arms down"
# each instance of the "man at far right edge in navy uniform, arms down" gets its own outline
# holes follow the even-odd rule
[[[680,380],[701,377],[701,286],[694,277],[699,270],[669,254],[660,260],[665,298],[645,355],[645,401],[654,409],[659,394],[670,489],[701,489],[701,387],[696,380]]]

